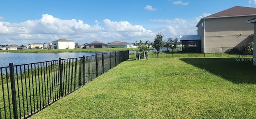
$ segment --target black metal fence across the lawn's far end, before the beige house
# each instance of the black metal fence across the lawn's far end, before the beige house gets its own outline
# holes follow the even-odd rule
[[[136,53],[130,53],[130,59],[136,59]],[[148,57],[252,57],[252,54],[246,53],[244,47],[219,47],[219,48],[202,48],[202,49],[160,49],[150,50]]]

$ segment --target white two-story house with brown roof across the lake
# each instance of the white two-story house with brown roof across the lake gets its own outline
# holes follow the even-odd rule
[[[74,49],[75,41],[69,41],[66,39],[58,39],[56,41],[52,41],[50,49]]]

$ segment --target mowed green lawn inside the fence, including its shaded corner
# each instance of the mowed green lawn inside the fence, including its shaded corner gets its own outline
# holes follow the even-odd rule
[[[128,60],[30,118],[255,118],[256,66],[236,61]]]

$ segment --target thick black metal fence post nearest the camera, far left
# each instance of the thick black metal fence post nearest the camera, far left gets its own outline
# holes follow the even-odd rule
[[[13,63],[9,64],[9,68],[10,68],[10,80],[11,80],[11,88],[12,88],[13,116],[14,116],[14,119],[18,119],[18,109],[17,109],[17,100],[16,100],[16,90],[15,90],[15,79],[14,79]]]

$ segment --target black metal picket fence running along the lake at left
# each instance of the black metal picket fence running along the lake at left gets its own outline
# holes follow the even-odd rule
[[[0,119],[24,119],[129,59],[129,51],[0,68]]]

